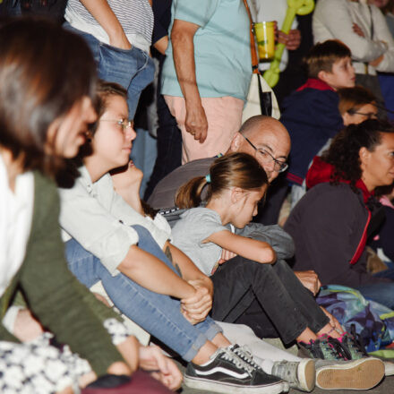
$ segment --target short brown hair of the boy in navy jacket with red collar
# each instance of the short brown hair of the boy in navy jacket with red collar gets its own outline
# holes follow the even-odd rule
[[[318,78],[321,71],[331,73],[332,64],[344,57],[351,57],[350,49],[338,39],[317,43],[304,58],[309,78]]]

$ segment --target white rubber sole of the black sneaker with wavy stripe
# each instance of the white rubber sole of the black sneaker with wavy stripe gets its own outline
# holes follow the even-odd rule
[[[209,379],[193,378],[184,375],[184,384],[190,389],[207,390],[209,392],[221,392],[225,394],[279,394],[286,389],[283,382],[272,383],[264,386],[240,386],[237,384],[224,383],[222,381],[210,381]]]

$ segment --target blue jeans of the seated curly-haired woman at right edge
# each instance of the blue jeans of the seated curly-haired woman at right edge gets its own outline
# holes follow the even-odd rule
[[[355,287],[368,300],[394,309],[394,268],[389,268],[373,275],[375,278],[389,278],[392,282],[371,283]]]

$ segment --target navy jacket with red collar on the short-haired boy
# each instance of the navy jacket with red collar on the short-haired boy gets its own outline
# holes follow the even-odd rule
[[[320,80],[309,79],[283,102],[280,121],[291,138],[287,179],[302,184],[309,164],[343,127],[338,94]]]

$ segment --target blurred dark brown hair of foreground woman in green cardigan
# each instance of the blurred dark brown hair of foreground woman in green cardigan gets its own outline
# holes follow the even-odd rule
[[[23,170],[53,175],[63,158],[46,154],[47,130],[83,96],[94,97],[96,64],[81,37],[51,21],[0,26],[0,145]]]

